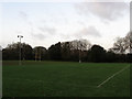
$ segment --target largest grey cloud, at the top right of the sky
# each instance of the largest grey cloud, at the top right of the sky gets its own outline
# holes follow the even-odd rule
[[[92,14],[108,21],[117,20],[129,11],[129,6],[124,2],[81,2],[75,4],[75,7],[79,14]]]

